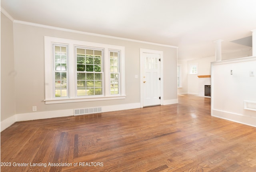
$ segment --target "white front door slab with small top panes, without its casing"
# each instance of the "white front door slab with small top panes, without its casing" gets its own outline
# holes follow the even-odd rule
[[[160,105],[160,54],[142,53],[143,107]]]

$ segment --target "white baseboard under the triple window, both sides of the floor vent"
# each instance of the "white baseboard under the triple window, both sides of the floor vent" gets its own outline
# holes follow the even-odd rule
[[[135,109],[135,108],[140,108],[140,103],[102,106],[102,112],[112,112],[117,110],[128,110],[128,109]],[[12,124],[14,124],[15,122],[40,120],[40,119],[47,119],[47,118],[58,118],[58,117],[65,117],[65,116],[74,116],[74,109],[16,114],[1,122],[1,132],[6,128],[8,128],[9,126],[11,126]]]

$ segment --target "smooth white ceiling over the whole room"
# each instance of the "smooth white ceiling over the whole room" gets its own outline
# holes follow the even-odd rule
[[[231,42],[256,29],[256,0],[1,0],[14,18],[37,24],[178,46],[179,59],[249,50]]]

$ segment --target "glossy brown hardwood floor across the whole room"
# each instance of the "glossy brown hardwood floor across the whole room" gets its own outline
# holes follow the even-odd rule
[[[166,106],[16,122],[1,132],[1,172],[256,171],[256,128],[210,116],[210,98],[178,98]]]

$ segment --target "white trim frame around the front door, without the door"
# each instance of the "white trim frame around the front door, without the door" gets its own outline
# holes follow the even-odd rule
[[[143,53],[149,53],[149,54],[159,54],[160,55],[160,96],[161,96],[161,105],[164,104],[164,52],[163,51],[158,51],[158,50],[149,50],[149,49],[144,49],[140,48],[140,108],[143,108],[143,100],[144,100],[144,95],[143,95],[143,66],[144,64],[144,56]]]

